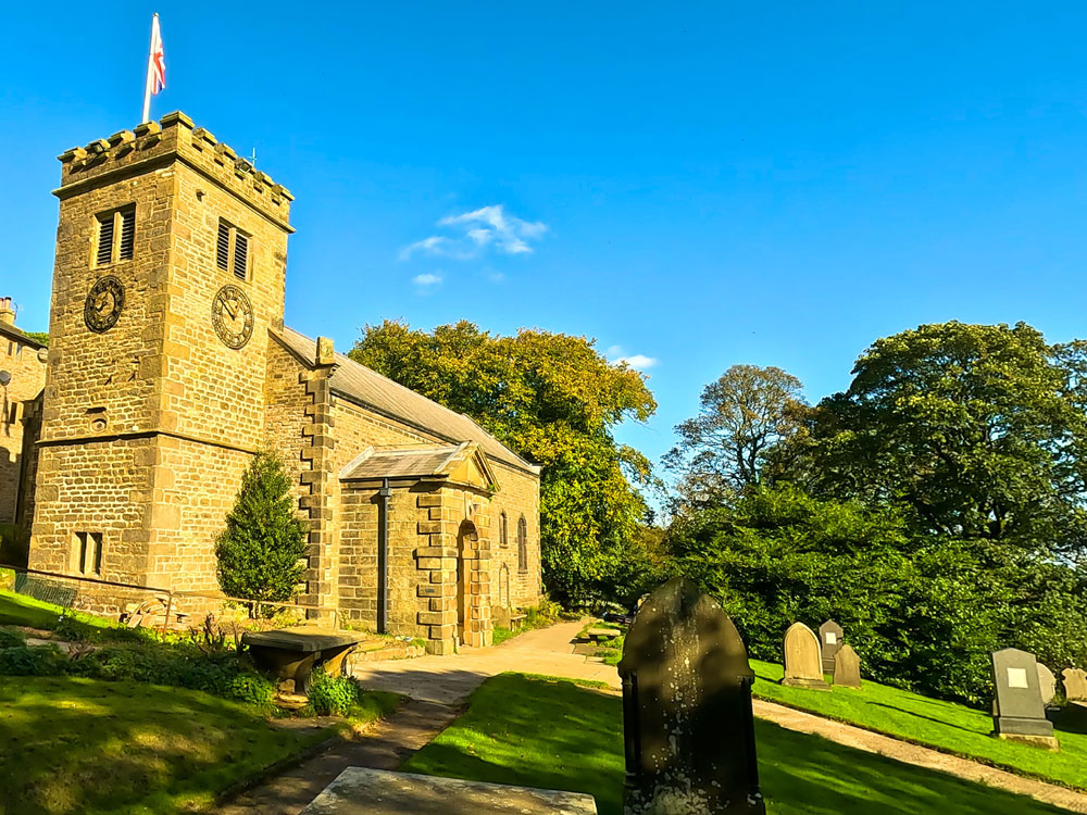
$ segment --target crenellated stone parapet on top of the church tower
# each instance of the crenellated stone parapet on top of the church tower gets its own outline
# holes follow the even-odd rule
[[[65,150],[57,158],[62,165],[61,186],[53,195],[61,199],[87,186],[108,184],[114,177],[122,179],[155,165],[182,161],[285,226],[295,200],[286,187],[258,171],[205,128],[196,127],[180,111],[86,147]]]

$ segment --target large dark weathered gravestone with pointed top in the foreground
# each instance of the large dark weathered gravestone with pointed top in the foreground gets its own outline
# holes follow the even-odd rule
[[[736,626],[685,578],[649,594],[623,660],[624,815],[764,815],[754,673]]]

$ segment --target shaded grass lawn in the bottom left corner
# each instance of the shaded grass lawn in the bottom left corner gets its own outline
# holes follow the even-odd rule
[[[326,738],[179,688],[0,677],[0,812],[201,812],[215,793]]]

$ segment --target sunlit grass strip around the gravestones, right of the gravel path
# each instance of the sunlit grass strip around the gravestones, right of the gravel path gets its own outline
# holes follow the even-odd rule
[[[989,736],[992,717],[983,711],[941,702],[865,680],[857,690],[808,690],[778,685],[780,665],[751,660],[754,694],[791,707],[849,722],[907,741],[957,753],[1010,770],[1087,789],[1087,710],[1069,707],[1057,719],[1061,752],[1001,741]],[[1078,714],[1078,715],[1077,715]]]

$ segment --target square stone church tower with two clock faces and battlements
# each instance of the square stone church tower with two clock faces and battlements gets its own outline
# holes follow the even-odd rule
[[[292,198],[183,113],[59,158],[29,565],[215,589],[265,438]]]

